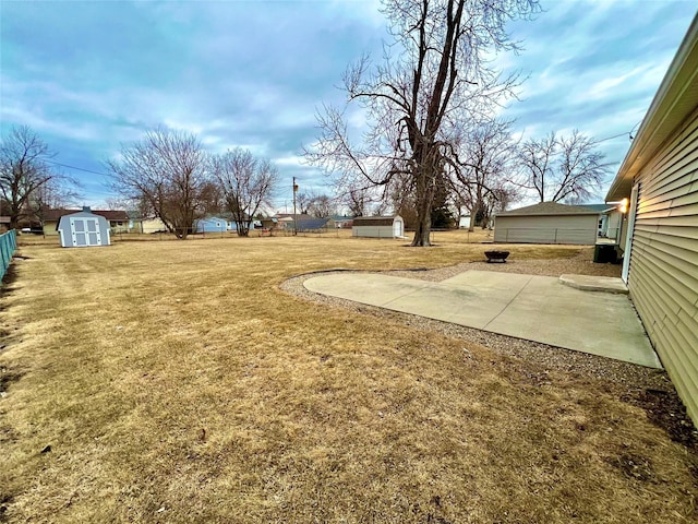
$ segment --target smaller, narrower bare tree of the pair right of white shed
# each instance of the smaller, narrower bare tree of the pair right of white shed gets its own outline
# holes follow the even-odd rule
[[[248,150],[236,147],[212,158],[212,171],[238,235],[246,237],[253,217],[270,199],[278,184],[278,171],[267,159],[255,158]]]

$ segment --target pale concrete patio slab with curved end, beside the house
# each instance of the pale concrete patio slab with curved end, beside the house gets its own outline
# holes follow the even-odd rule
[[[404,313],[661,368],[619,278],[467,271],[438,283],[332,273],[306,289]]]

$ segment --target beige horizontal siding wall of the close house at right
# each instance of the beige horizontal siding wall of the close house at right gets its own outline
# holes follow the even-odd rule
[[[698,112],[636,177],[628,287],[648,336],[698,420]]]

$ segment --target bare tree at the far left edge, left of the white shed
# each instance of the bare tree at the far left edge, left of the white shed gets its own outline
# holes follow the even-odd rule
[[[28,127],[12,128],[0,146],[0,192],[2,213],[10,216],[10,228],[15,229],[21,221],[32,219],[35,207],[32,199],[38,191],[59,176],[47,160],[52,153],[46,142]]]

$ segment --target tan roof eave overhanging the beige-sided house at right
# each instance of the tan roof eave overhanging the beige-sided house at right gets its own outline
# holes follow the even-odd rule
[[[694,17],[676,56],[660,84],[635,135],[621,169],[606,194],[606,202],[627,198],[635,176],[690,116],[698,99],[698,14]]]

